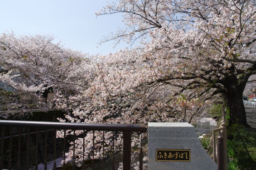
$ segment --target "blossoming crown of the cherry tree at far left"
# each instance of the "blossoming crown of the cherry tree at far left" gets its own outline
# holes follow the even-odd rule
[[[86,86],[86,79],[78,77],[80,64],[86,62],[85,54],[64,49],[52,43],[52,36],[0,37],[0,80],[22,93],[48,92],[49,88],[70,89]],[[76,70],[76,71],[73,71]],[[83,81],[83,82],[82,82]],[[47,96],[47,94],[46,94]]]

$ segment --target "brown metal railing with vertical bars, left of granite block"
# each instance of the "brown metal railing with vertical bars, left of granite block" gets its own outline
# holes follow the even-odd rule
[[[125,124],[87,124],[87,123],[60,123],[60,122],[36,122],[36,121],[0,121],[0,127],[2,128],[2,133],[1,133],[1,157],[0,157],[0,170],[2,170],[3,168],[3,151],[4,151],[4,140],[7,138],[6,137],[6,133],[5,133],[5,128],[6,127],[10,127],[10,134],[8,134],[8,138],[10,138],[9,142],[10,142],[10,146],[9,146],[9,158],[8,158],[8,169],[12,168],[12,142],[13,142],[13,137],[15,135],[13,135],[12,132],[12,128],[19,128],[19,133],[18,133],[18,158],[17,159],[17,168],[16,169],[21,169],[21,165],[20,165],[20,152],[21,152],[21,132],[22,132],[22,128],[28,128],[27,131],[27,144],[26,144],[26,170],[29,170],[31,168],[31,163],[30,162],[30,135],[32,134],[30,132],[30,128],[36,128],[36,154],[35,154],[35,163],[34,163],[34,167],[36,170],[38,170],[38,142],[39,142],[39,138],[38,138],[38,133],[39,133],[39,128],[44,128],[45,130],[45,154],[44,154],[44,169],[47,169],[47,135],[48,135],[48,131],[54,129],[55,130],[55,137],[54,137],[54,170],[56,169],[56,130],[57,129],[63,129],[64,130],[64,145],[63,145],[63,169],[66,168],[66,164],[65,164],[65,157],[66,157],[66,130],[72,130],[73,131],[73,162],[72,162],[72,169],[75,169],[75,138],[76,138],[76,130],[83,130],[83,138],[85,137],[85,130],[87,131],[92,131],[93,132],[93,148],[92,148],[92,155],[93,155],[93,159],[92,159],[92,169],[94,169],[95,167],[95,163],[94,163],[94,140],[95,140],[95,136],[94,136],[94,131],[103,131],[103,159],[102,159],[102,169],[104,169],[104,131],[119,131],[123,133],[123,168],[124,170],[130,170],[131,169],[131,142],[132,142],[132,132],[145,132],[146,131],[146,127],[145,125],[125,125]],[[83,140],[83,164],[82,164],[82,169],[85,169],[84,166],[84,154],[85,154],[85,150],[84,150],[84,140]],[[114,146],[114,140],[113,140],[113,146]],[[140,146],[140,170],[142,170],[142,145]],[[113,160],[114,160],[114,147],[113,147]],[[6,166],[6,165],[5,165]],[[114,169],[115,163],[112,163],[112,169]]]

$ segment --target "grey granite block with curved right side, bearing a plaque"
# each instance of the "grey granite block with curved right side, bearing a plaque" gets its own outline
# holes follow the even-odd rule
[[[188,123],[148,123],[148,170],[217,170]]]

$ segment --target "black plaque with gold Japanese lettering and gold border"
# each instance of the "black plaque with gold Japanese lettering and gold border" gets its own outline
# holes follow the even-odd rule
[[[190,162],[190,149],[156,149],[156,161]]]

